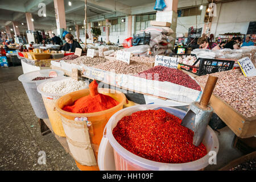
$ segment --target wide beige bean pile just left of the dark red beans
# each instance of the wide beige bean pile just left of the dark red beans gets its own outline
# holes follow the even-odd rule
[[[135,61],[130,61],[130,64],[127,64],[123,61],[113,60],[98,64],[94,66],[94,68],[129,75],[150,69],[150,66],[146,64],[137,63]]]

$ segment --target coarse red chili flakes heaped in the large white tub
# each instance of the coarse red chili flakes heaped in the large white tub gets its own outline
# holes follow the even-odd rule
[[[187,163],[203,158],[203,143],[193,145],[193,131],[181,119],[163,109],[137,111],[123,117],[113,129],[114,138],[126,150],[162,163]]]

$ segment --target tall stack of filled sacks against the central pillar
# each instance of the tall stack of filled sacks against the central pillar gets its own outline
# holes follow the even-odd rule
[[[150,48],[153,55],[169,55],[174,47],[171,43],[174,38],[171,36],[174,31],[170,27],[148,27],[144,30],[147,34],[150,33]]]

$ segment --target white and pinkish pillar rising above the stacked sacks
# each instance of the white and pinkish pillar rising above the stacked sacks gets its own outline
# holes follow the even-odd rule
[[[178,0],[164,0],[164,2],[166,3],[166,8],[163,11],[156,12],[156,21],[170,22],[172,30],[176,32]],[[172,36],[174,37],[175,40],[176,33]]]

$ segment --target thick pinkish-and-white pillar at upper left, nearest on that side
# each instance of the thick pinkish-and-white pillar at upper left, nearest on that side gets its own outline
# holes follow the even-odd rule
[[[63,29],[67,29],[64,0],[54,0],[55,17],[57,25],[57,35],[62,37]],[[60,30],[61,29],[61,30]]]

